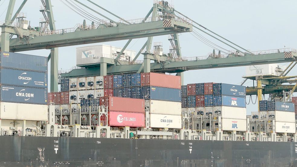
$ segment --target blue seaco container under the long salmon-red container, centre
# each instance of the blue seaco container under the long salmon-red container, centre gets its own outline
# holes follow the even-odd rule
[[[157,86],[141,87],[141,95],[144,100],[164,100],[181,102],[181,90]]]

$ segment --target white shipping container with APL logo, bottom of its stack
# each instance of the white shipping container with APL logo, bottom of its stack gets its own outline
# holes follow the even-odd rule
[[[222,118],[222,130],[247,131],[247,120]]]

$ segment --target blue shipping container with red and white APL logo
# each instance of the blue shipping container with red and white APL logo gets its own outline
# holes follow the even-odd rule
[[[245,97],[222,95],[222,106],[245,108],[246,107]]]

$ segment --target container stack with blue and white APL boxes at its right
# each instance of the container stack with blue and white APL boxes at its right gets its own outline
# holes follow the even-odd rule
[[[244,86],[210,82],[188,84],[187,93],[182,90],[182,111],[195,112],[207,117],[210,114],[221,115],[222,130],[245,131]]]

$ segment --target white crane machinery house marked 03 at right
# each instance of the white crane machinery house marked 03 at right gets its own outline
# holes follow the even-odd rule
[[[258,75],[272,75],[279,76],[281,69],[278,68],[277,64],[262,64],[253,65],[246,67],[246,76],[258,76]]]

